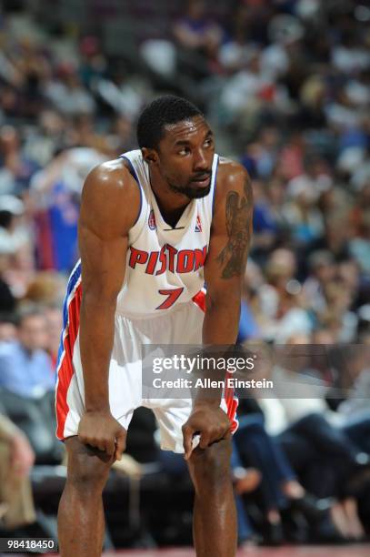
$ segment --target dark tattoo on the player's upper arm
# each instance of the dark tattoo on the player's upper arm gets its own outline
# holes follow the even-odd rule
[[[243,171],[243,190],[230,189],[225,202],[227,243],[217,257],[222,267],[221,277],[240,277],[245,270],[251,242],[253,217],[253,190],[247,172]]]

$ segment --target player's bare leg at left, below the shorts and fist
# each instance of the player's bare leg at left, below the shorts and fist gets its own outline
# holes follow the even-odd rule
[[[98,557],[105,531],[102,492],[113,457],[77,437],[65,441],[67,480],[59,503],[58,539],[62,557]]]

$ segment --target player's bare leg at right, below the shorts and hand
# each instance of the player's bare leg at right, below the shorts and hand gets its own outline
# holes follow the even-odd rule
[[[231,440],[223,440],[205,450],[196,448],[188,461],[195,487],[193,532],[197,557],[233,557],[236,553],[231,451]]]

